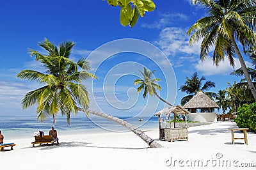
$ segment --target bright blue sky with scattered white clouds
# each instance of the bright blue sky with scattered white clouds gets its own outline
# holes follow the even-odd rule
[[[227,88],[227,82],[240,80],[229,75],[240,67],[238,59],[235,68],[227,59],[216,67],[211,56],[203,63],[200,61],[200,42],[189,47],[186,31],[205,16],[202,8],[189,0],[155,3],[156,10],[140,17],[136,26],[130,28],[120,25],[120,8],[109,6],[106,1],[3,1],[0,6],[0,116],[36,115],[35,107],[22,110],[20,101],[40,84],[17,79],[16,75],[24,69],[43,71],[35,58],[29,56],[28,49],[44,52],[38,43],[45,37],[56,45],[67,40],[76,43],[71,58],[77,61],[88,57],[91,71],[99,77],[99,81],[84,82],[90,91],[91,108],[116,116],[148,116],[163,109],[157,98],[143,99],[142,93],[137,95],[134,89],[132,82],[140,77],[138,70],[143,66],[156,70],[154,75],[162,79],[159,94],[175,105],[186,96],[178,91],[179,86],[194,72],[215,82],[216,88],[210,89],[214,92]],[[137,49],[129,50],[130,46],[135,48],[136,43],[130,43],[125,49],[124,44],[118,42],[125,38],[129,38],[128,42],[132,38],[138,43],[143,40],[146,46],[144,43],[138,46],[143,54]],[[109,48],[111,45],[115,45],[115,50],[114,46]],[[244,59],[250,66],[250,60]]]

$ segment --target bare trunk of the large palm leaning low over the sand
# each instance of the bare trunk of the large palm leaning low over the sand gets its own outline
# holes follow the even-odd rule
[[[82,108],[78,108],[78,110],[83,111],[83,112],[88,112],[88,113],[94,114],[96,116],[100,116],[102,118],[106,118],[110,121],[113,121],[115,123],[118,123],[119,125],[124,126],[125,128],[128,128],[129,130],[134,132],[134,134],[138,135],[143,141],[145,141],[145,143],[147,143],[151,148],[162,148],[163,147],[163,146],[161,146],[161,144],[154,141],[154,139],[152,139],[151,137],[146,135],[144,132],[141,132],[141,130],[134,127],[133,125],[131,125],[131,123],[128,123],[127,121],[124,121],[120,118],[116,118],[115,116],[111,116],[110,114],[106,114],[104,112],[97,112],[97,111],[92,111],[89,109],[82,109]]]

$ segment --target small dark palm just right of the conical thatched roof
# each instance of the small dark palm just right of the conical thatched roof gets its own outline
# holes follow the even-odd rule
[[[222,114],[225,114],[228,109],[228,106],[231,103],[227,97],[227,91],[219,90],[218,93],[216,94],[215,100],[216,100],[216,104],[218,104],[222,109]],[[220,110],[220,108],[218,108],[218,111]]]

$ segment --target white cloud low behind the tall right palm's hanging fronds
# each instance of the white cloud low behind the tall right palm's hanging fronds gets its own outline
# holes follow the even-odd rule
[[[234,68],[230,66],[230,62],[228,61],[228,58],[226,57],[224,61],[220,61],[220,64],[216,66],[212,58],[208,57],[203,62],[198,61],[198,63],[195,65],[195,68],[197,71],[202,72],[204,75],[228,75],[230,72],[237,70],[241,67],[239,59],[234,58],[235,60],[235,66]],[[252,67],[252,63],[249,63],[248,61],[245,61],[246,66]]]

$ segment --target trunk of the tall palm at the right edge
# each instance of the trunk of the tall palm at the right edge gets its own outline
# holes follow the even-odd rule
[[[245,76],[246,81],[247,81],[247,83],[248,83],[248,85],[249,85],[249,88],[250,88],[251,91],[252,91],[252,95],[253,95],[253,97],[254,97],[254,100],[256,100],[256,90],[255,90],[255,87],[254,87],[254,85],[253,85],[253,83],[252,83],[252,80],[250,79],[248,70],[247,70],[246,65],[245,65],[245,63],[244,63],[244,59],[243,59],[243,57],[242,57],[242,55],[241,55],[241,52],[239,51],[239,49],[238,49],[238,47],[237,47],[236,40],[235,40],[234,36],[231,37],[231,41],[232,41],[232,43],[233,43],[233,45],[234,45],[234,47],[235,47],[236,54],[237,54],[237,56],[238,56],[238,59],[239,59],[239,61],[240,61],[241,66],[242,66],[242,70],[243,70],[243,72],[244,72],[244,76]]]

